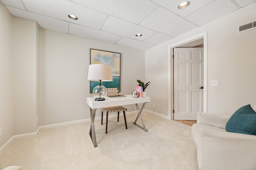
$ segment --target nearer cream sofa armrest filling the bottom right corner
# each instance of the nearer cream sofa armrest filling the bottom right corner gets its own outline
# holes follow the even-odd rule
[[[256,136],[200,129],[198,166],[200,170],[256,168]]]

